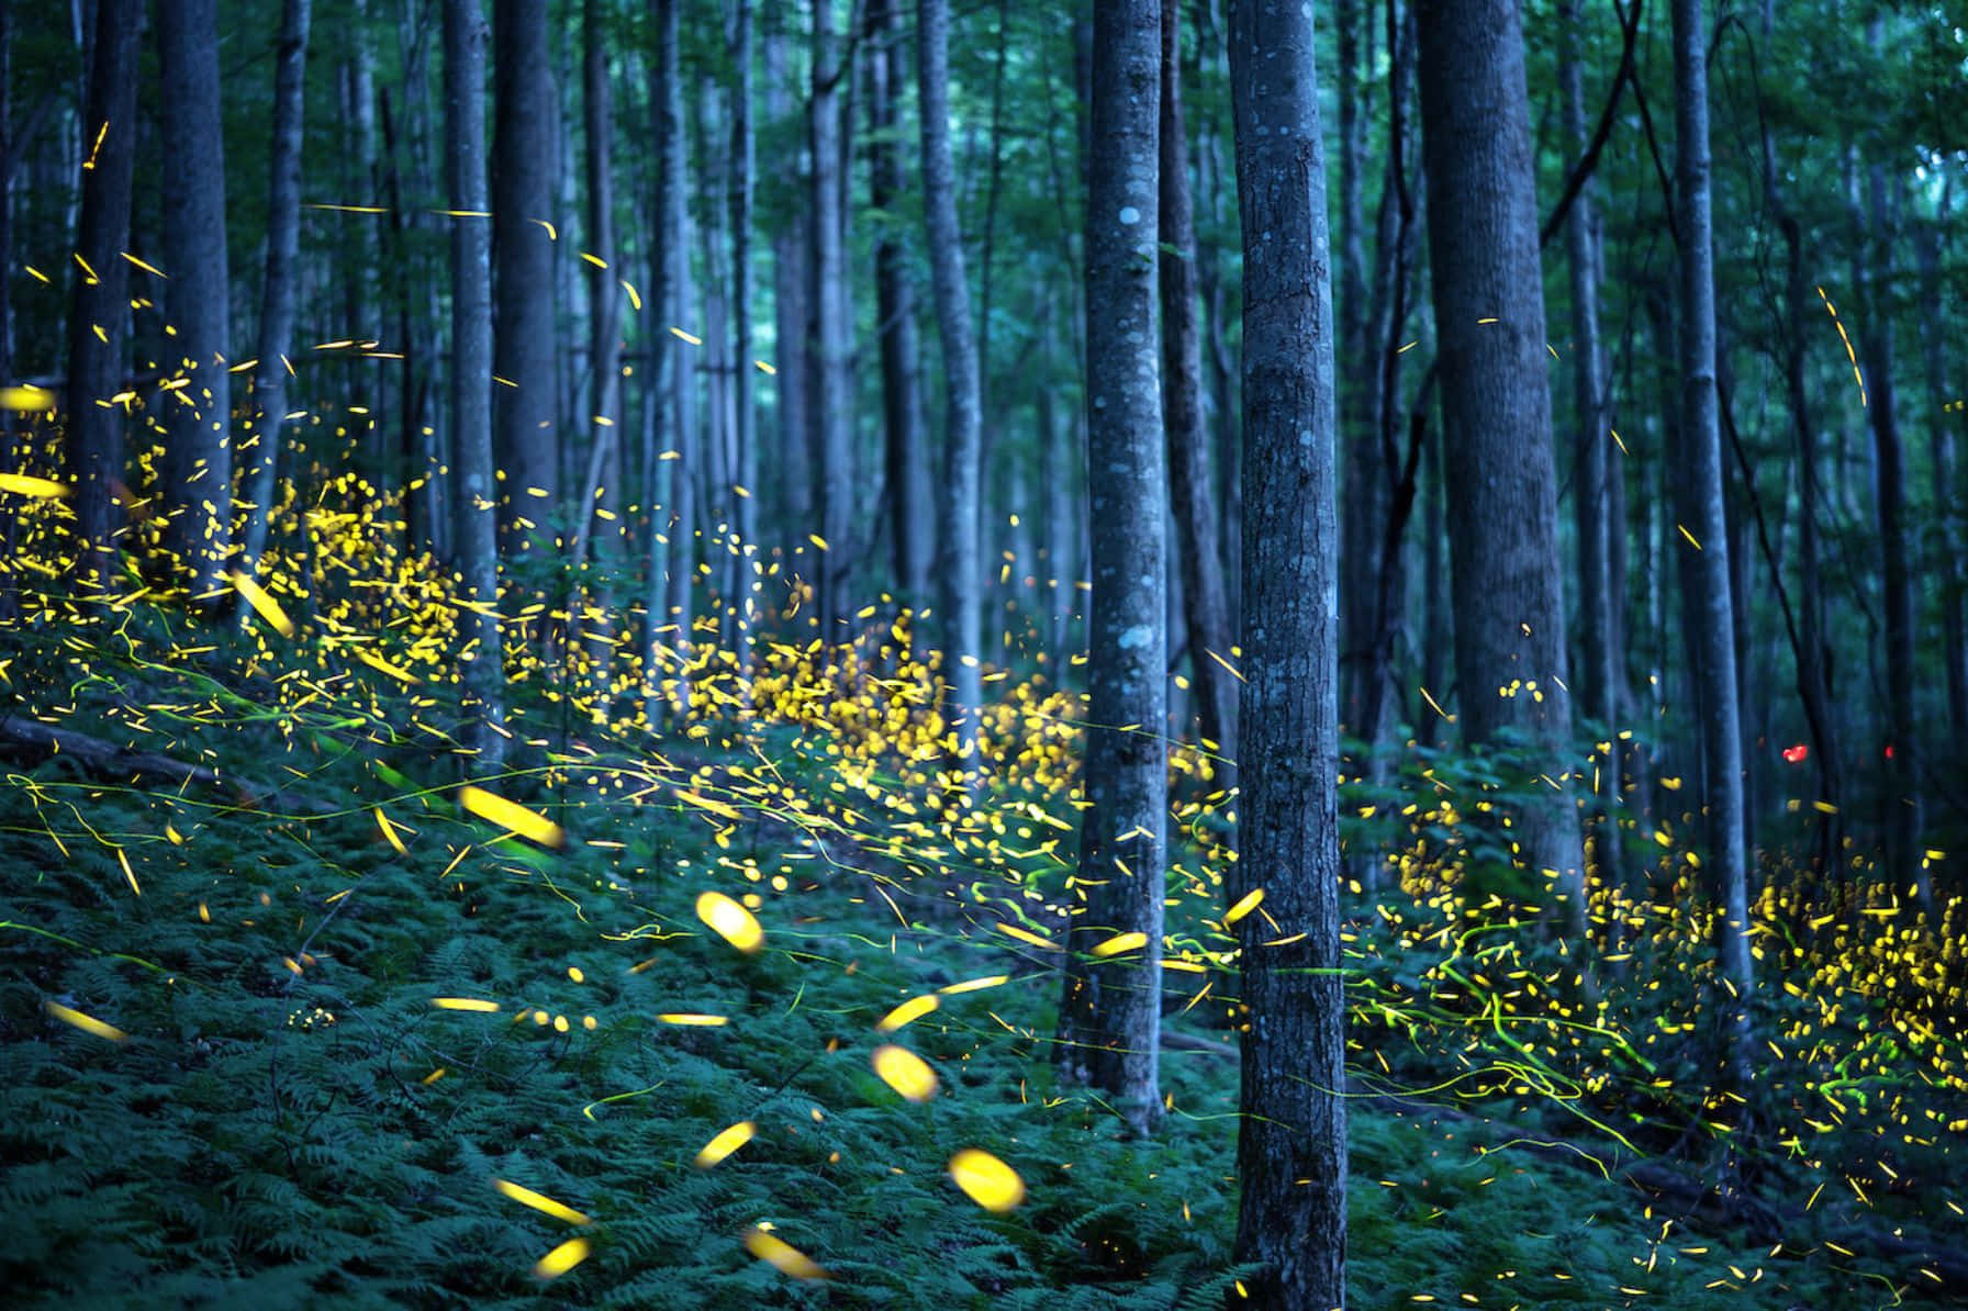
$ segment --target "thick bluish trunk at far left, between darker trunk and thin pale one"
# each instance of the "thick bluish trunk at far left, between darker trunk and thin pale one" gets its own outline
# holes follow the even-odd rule
[[[157,10],[163,102],[165,309],[185,382],[163,409],[169,443],[167,543],[193,600],[220,585],[232,541],[232,325],[226,274],[226,148],[218,112],[216,0]]]

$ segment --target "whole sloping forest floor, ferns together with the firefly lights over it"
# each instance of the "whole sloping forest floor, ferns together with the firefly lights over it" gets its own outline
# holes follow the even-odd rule
[[[901,628],[762,656],[667,734],[541,697],[557,730],[470,793],[407,638],[16,626],[8,1305],[1234,1301],[1226,801],[1177,776],[1167,1118],[1134,1142],[1053,1079],[1063,717],[1000,685],[984,780],[925,787],[893,752],[933,709],[872,650]],[[1401,888],[1346,904],[1350,1305],[1960,1305],[1962,1047],[1879,976],[1944,1000],[1942,955],[1771,939],[1732,1100],[1698,913],[1628,923],[1586,1014],[1458,823],[1403,821]]]

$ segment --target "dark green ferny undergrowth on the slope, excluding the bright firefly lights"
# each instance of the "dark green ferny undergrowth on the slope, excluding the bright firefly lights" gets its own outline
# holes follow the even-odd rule
[[[130,673],[14,709],[128,728],[98,693]],[[878,866],[610,791],[632,756],[504,780],[565,825],[563,848],[539,848],[457,805],[445,756],[407,726],[435,709],[384,679],[276,713],[195,659],[140,673],[146,705],[173,707],[157,746],[216,764],[220,785],[112,785],[61,754],[0,785],[8,1305],[1234,1305],[1236,1061],[1234,1035],[1200,1028],[1214,1004],[1171,998],[1191,1037],[1165,1057],[1171,1114],[1130,1142],[1053,1083],[1057,957],[888,896]],[[708,890],[758,898],[762,951],[705,929]],[[1362,978],[1421,990],[1443,953],[1350,909]],[[1000,974],[876,1031],[905,998]],[[457,998],[496,1010],[433,1004]],[[1354,1016],[1364,1071],[1409,1089],[1468,1073],[1385,1018]],[[884,1041],[931,1063],[935,1096],[905,1102],[874,1073]],[[742,1120],[758,1136],[699,1167]],[[1352,1305],[1921,1293],[1915,1270],[1809,1232],[1752,1244],[1649,1211],[1594,1155],[1610,1138],[1553,1148],[1559,1132],[1494,1079],[1484,1100],[1356,1098]],[[960,1193],[947,1165],[966,1148],[1010,1163],[1023,1205]],[[827,1278],[756,1260],[754,1226]],[[575,1236],[586,1260],[535,1274]]]

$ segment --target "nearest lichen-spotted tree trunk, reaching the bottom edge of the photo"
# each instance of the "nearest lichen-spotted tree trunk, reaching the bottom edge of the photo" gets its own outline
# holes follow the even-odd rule
[[[1332,301],[1311,6],[1234,0],[1244,218],[1244,967],[1236,1258],[1252,1307],[1346,1301]]]

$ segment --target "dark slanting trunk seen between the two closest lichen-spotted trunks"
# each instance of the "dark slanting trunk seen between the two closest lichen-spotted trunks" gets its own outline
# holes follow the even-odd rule
[[[1202,427],[1202,339],[1197,329],[1197,222],[1189,201],[1183,124],[1181,0],[1161,0],[1161,376],[1169,439],[1169,494],[1181,555],[1183,622],[1197,728],[1224,762],[1236,760],[1230,604],[1216,553],[1216,492]],[[1210,656],[1214,652],[1214,657]],[[1228,781],[1224,781],[1228,785]]]

